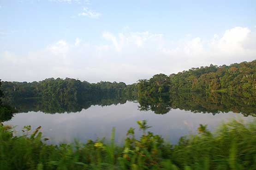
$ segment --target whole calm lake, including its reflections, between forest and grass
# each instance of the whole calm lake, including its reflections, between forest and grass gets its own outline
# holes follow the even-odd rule
[[[126,131],[138,130],[137,120],[147,120],[149,130],[176,144],[184,135],[196,133],[199,124],[214,130],[222,121],[240,118],[256,119],[256,100],[250,97],[230,97],[223,94],[181,94],[174,96],[104,98],[83,102],[58,102],[56,100],[18,100],[12,102],[19,113],[4,124],[15,125],[21,134],[25,125],[33,129],[42,126],[49,143],[87,141],[110,138],[115,127],[115,140],[122,143]]]

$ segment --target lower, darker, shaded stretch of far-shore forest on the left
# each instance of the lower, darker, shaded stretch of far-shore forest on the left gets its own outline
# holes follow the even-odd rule
[[[40,82],[2,82],[5,98],[46,97],[59,100],[88,100],[102,96],[133,95],[136,85],[124,82],[81,82],[72,78],[48,78]]]

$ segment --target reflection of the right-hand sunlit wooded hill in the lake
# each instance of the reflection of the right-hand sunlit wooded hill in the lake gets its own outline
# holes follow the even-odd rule
[[[242,113],[244,116],[256,116],[255,94],[230,96],[220,93],[180,93],[170,96],[140,96],[138,97],[141,111],[154,111],[165,114],[173,109],[192,111],[194,113]]]

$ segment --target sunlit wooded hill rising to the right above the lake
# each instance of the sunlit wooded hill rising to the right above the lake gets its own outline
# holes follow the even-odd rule
[[[177,91],[221,91],[241,94],[256,90],[256,60],[231,64],[191,68],[190,70],[171,74],[158,74],[139,80],[139,95],[164,94]]]

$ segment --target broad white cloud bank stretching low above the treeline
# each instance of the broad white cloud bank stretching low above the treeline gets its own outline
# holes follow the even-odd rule
[[[104,32],[104,45],[79,38],[60,40],[41,51],[19,56],[0,53],[0,77],[11,81],[34,81],[48,77],[74,77],[89,82],[136,82],[154,74],[167,75],[191,67],[232,64],[256,59],[256,36],[249,28],[235,27],[210,40],[185,36],[169,41],[161,34]]]

